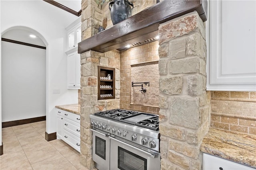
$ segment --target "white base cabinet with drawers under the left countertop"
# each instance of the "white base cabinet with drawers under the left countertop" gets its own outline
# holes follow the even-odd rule
[[[80,115],[57,110],[57,139],[62,139],[68,145],[80,152]]]

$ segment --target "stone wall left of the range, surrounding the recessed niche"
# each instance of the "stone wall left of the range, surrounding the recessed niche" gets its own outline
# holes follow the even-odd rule
[[[82,40],[98,33],[102,25],[102,11],[94,0],[82,1]],[[120,54],[119,51],[98,53],[87,51],[81,58],[80,90],[80,162],[88,169],[94,168],[92,160],[92,132],[90,115],[96,111],[120,107]],[[116,68],[115,99],[98,100],[98,66]]]

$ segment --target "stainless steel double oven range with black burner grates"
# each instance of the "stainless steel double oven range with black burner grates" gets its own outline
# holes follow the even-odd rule
[[[90,121],[98,170],[160,170],[158,115],[112,109]]]

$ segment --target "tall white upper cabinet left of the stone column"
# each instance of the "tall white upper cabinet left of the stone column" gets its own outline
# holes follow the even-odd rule
[[[67,85],[68,89],[80,89],[80,54],[78,43],[81,41],[81,17],[66,27]]]

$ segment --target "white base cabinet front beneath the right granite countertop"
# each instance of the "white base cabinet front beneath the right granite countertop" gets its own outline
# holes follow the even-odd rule
[[[238,164],[230,160],[203,154],[203,170],[255,170],[249,166]]]

